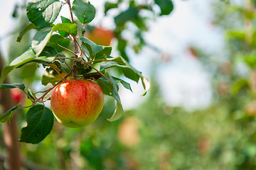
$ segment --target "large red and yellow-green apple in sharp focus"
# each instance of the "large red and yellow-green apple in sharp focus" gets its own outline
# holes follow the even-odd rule
[[[90,125],[102,111],[104,95],[95,82],[70,79],[55,86],[50,106],[59,123],[69,128]]]

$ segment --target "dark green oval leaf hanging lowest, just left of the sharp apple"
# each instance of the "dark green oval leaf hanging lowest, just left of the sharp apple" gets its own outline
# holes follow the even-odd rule
[[[49,108],[43,105],[33,106],[26,113],[28,125],[21,129],[20,142],[37,144],[44,140],[53,128],[54,116]]]

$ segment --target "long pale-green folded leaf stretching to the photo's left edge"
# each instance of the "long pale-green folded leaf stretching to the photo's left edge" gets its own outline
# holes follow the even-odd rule
[[[11,62],[9,66],[4,67],[1,71],[1,83],[4,81],[6,75],[11,72],[11,70],[21,67],[23,64],[27,64],[30,62],[37,62],[37,63],[50,63],[55,60],[55,57],[37,57],[36,54],[33,52],[33,50],[28,50],[24,52],[21,56],[17,57],[14,61]]]

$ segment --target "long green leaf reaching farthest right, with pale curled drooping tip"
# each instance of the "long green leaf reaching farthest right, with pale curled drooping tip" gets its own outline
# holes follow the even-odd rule
[[[150,88],[150,83],[149,83],[149,80],[142,75],[142,72],[139,72],[137,69],[132,67],[132,65],[129,64],[129,62],[127,62],[126,60],[124,60],[124,58],[121,56],[113,59],[108,59],[108,60],[110,62],[107,62],[106,64],[101,65],[100,69],[109,69],[112,67],[118,67],[124,73],[125,77],[132,79],[137,83],[139,81],[139,78],[142,79],[142,86],[144,87],[144,90],[145,90],[142,96],[146,95],[146,91],[148,91]]]

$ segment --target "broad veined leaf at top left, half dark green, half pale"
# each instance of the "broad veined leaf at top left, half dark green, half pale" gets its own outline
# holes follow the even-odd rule
[[[43,28],[50,26],[58,17],[61,9],[61,2],[58,0],[40,0],[28,3],[26,8],[28,20],[36,27]]]

